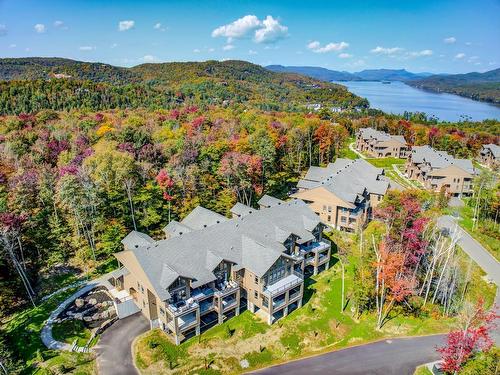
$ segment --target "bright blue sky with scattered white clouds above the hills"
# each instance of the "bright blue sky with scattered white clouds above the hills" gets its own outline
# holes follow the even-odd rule
[[[483,72],[500,0],[0,0],[0,57],[30,56]]]

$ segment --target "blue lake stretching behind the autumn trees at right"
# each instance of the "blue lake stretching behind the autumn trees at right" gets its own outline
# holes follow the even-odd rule
[[[453,94],[419,90],[402,82],[336,82],[370,102],[371,108],[387,113],[425,112],[442,121],[458,121],[463,116],[472,120],[500,119],[500,107]]]

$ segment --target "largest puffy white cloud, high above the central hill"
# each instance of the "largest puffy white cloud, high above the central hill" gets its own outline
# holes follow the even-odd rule
[[[248,38],[252,34],[255,43],[273,43],[288,35],[288,27],[280,24],[273,16],[267,16],[261,21],[257,16],[248,14],[212,31],[213,38],[224,37],[228,43],[232,43],[234,39]]]

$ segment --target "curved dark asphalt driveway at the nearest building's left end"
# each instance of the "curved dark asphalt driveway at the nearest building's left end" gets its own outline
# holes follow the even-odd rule
[[[100,375],[137,375],[132,360],[132,341],[149,329],[142,314],[120,319],[102,334],[95,347]]]

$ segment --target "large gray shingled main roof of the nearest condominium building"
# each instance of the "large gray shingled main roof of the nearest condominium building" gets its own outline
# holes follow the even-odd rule
[[[222,260],[262,275],[286,250],[286,233],[302,242],[312,240],[311,231],[320,224],[304,202],[293,200],[130,251],[165,300],[169,282],[183,276],[192,279],[194,288],[204,285],[215,280],[213,270]]]

